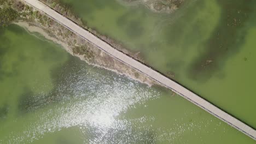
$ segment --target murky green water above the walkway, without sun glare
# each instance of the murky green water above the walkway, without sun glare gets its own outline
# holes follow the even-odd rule
[[[115,0],[61,0],[86,25],[256,128],[256,1],[185,1],[172,14]]]

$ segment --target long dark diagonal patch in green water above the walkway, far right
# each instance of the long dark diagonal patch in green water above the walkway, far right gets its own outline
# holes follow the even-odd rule
[[[219,25],[205,44],[206,51],[195,59],[188,70],[190,79],[204,82],[219,69],[226,59],[239,51],[245,43],[246,30],[243,29],[251,12],[251,2],[222,1],[222,17]]]

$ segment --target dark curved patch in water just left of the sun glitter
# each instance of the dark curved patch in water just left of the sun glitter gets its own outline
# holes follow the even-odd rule
[[[77,93],[85,93],[88,89],[79,88],[77,83],[80,79],[86,81],[86,70],[84,69],[85,62],[79,58],[69,56],[69,60],[63,65],[59,65],[51,72],[54,88],[49,93],[34,95],[31,89],[24,88],[24,93],[19,99],[19,113],[24,114],[42,109],[45,106],[54,103],[62,103],[63,101],[71,100]]]

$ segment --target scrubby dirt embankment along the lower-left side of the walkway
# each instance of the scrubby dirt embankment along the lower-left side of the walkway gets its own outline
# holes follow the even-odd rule
[[[50,19],[40,11],[29,7],[22,1],[15,0],[12,2],[14,8],[19,5],[19,10],[16,9],[20,14],[19,21],[15,22],[17,25],[26,28],[30,32],[38,32],[44,35],[46,39],[53,40],[55,43],[62,45],[69,53],[79,57],[91,65],[96,65],[98,67],[115,71],[118,74],[129,76],[142,83],[147,83],[149,86],[158,84],[149,77],[141,74],[139,71],[125,65],[113,57],[110,57],[95,45],[69,31],[69,29]]]

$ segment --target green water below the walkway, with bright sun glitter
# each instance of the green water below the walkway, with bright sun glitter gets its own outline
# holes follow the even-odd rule
[[[0,143],[255,143],[167,89],[38,36],[0,29]]]

